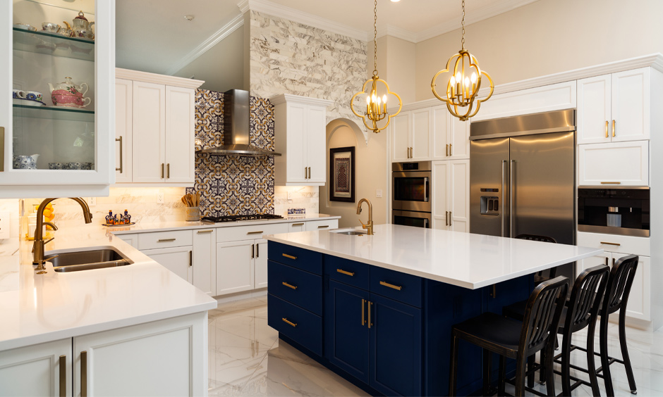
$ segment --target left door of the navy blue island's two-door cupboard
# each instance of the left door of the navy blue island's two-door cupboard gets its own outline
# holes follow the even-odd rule
[[[329,280],[325,355],[330,363],[365,384],[369,383],[368,306],[368,291]]]

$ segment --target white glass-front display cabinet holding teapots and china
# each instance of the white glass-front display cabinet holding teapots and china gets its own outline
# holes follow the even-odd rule
[[[0,197],[108,195],[114,13],[114,0],[0,2]]]

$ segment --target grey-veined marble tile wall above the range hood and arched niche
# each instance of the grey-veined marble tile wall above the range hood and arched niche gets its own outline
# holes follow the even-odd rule
[[[366,78],[366,43],[250,11],[251,94],[331,99],[327,122],[356,118],[350,99]]]

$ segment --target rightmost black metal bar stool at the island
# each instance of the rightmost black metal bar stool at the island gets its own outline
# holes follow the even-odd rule
[[[603,378],[605,383],[605,390],[609,397],[614,397],[614,387],[612,386],[612,377],[610,375],[610,365],[613,363],[620,363],[624,365],[626,370],[626,377],[628,378],[628,386],[631,388],[632,394],[637,394],[635,388],[635,377],[633,376],[633,367],[631,367],[631,358],[628,357],[628,348],[626,346],[626,303],[628,303],[628,296],[631,294],[631,286],[633,286],[633,278],[635,277],[635,270],[638,269],[638,256],[629,255],[620,258],[612,265],[610,270],[610,277],[608,278],[607,287],[599,310],[601,316],[601,324],[599,327],[599,340],[600,351],[594,352],[601,358],[601,367],[597,368],[596,376]],[[608,355],[608,317],[619,310],[619,345],[621,346],[621,355],[623,360],[610,357]],[[589,346],[588,346],[589,347]],[[569,351],[575,349],[588,352],[589,348],[581,348],[579,346],[571,345]],[[589,353],[588,353],[589,355]],[[589,373],[588,369],[571,365],[574,370],[580,370]],[[603,372],[601,374],[601,372]],[[578,380],[578,379],[574,379]],[[583,384],[587,382],[580,381]],[[590,385],[591,386],[591,385]],[[593,386],[592,386],[593,390]]]

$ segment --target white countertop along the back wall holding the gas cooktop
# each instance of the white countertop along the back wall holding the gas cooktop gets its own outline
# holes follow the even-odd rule
[[[112,226],[107,227],[99,225],[104,229],[108,229],[114,234],[130,234],[142,232],[167,232],[169,230],[183,230],[183,229],[209,229],[210,227],[233,227],[233,226],[248,226],[248,225],[264,225],[266,223],[291,223],[291,222],[308,222],[312,220],[328,220],[328,219],[341,219],[338,215],[325,215],[325,214],[309,214],[297,215],[294,217],[284,217],[283,219],[272,220],[240,220],[237,222],[187,222],[185,220],[169,221],[169,222],[152,222],[152,223],[137,223],[130,226]]]

